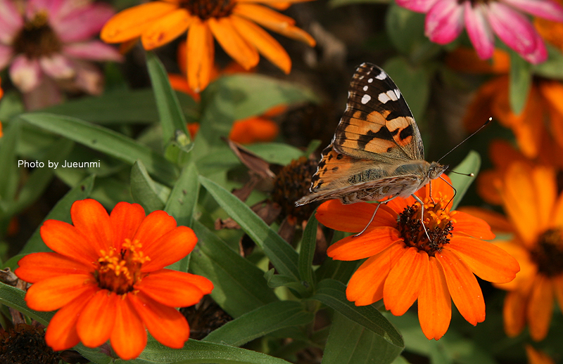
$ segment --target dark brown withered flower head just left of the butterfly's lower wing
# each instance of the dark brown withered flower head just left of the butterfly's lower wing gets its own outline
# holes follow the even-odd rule
[[[282,216],[295,216],[299,222],[309,219],[318,204],[296,207],[295,202],[309,194],[311,176],[317,171],[317,161],[300,157],[278,172],[274,180],[272,200],[281,206]]]

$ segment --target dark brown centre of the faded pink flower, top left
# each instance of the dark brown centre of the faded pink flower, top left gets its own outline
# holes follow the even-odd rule
[[[13,39],[16,54],[23,53],[27,58],[39,58],[58,53],[63,48],[61,40],[49,26],[47,13],[39,11],[31,20],[25,20],[20,32]]]

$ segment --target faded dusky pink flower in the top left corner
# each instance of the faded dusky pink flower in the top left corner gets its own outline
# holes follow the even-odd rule
[[[58,103],[59,88],[101,93],[102,74],[85,60],[121,60],[91,39],[113,13],[88,0],[0,0],[0,70],[10,65],[27,108]]]

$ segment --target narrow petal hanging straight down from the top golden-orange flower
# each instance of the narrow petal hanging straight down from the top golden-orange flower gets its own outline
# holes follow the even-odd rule
[[[210,82],[215,57],[213,35],[207,22],[196,19],[191,24],[187,44],[188,83],[192,90],[200,92]]]

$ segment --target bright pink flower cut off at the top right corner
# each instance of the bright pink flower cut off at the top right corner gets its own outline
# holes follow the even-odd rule
[[[447,44],[467,29],[477,54],[491,58],[495,37],[530,63],[541,63],[548,52],[536,29],[522,12],[563,22],[563,7],[551,0],[396,0],[404,8],[426,13],[426,36]],[[494,33],[494,34],[493,34]]]

